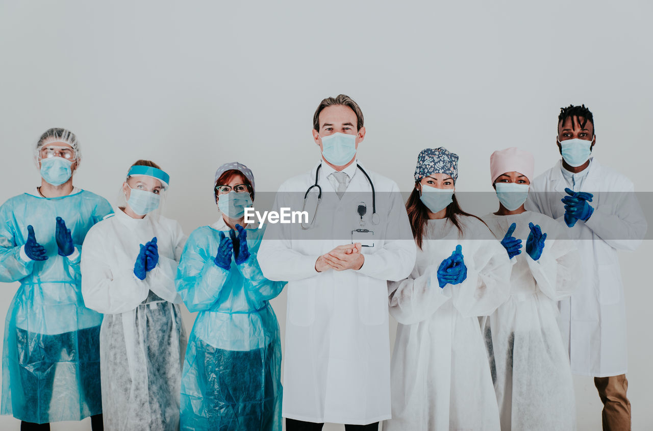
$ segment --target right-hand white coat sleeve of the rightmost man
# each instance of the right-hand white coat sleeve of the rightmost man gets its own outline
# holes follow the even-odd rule
[[[611,192],[601,196],[601,203],[594,208],[585,226],[613,248],[637,249],[648,224],[637,201],[635,186],[629,182],[623,193]]]

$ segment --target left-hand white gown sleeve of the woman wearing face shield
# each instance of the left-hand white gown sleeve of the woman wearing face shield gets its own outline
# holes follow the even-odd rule
[[[91,228],[82,247],[84,304],[91,310],[104,314],[134,310],[147,296],[148,289],[144,289],[146,281],[136,278],[133,267],[116,268],[115,264],[110,265],[110,255],[116,253],[116,250],[107,248],[102,229]]]

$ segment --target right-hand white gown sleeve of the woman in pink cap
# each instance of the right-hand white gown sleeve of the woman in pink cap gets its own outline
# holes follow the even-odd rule
[[[554,301],[560,301],[573,293],[581,280],[581,255],[560,225],[551,225],[547,233],[542,255],[534,261],[524,249],[537,288]],[[551,238],[550,240],[548,238]]]

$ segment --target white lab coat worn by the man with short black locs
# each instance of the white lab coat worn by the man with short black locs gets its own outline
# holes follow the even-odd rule
[[[646,219],[633,183],[592,159],[581,191],[594,194],[594,213],[573,228],[564,224],[567,182],[561,163],[531,183],[526,209],[541,212],[564,225],[581,254],[581,284],[560,302],[558,324],[569,349],[571,372],[607,377],[628,368],[626,306],[617,250],[634,250],[646,234]]]

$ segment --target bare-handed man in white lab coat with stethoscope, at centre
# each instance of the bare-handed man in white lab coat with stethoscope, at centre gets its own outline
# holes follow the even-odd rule
[[[358,104],[324,99],[313,129],[322,160],[275,200],[308,219],[268,225],[258,253],[266,278],[288,281],[283,417],[288,431],[377,430],[390,418],[387,281],[411,272],[415,242],[397,185],[358,163]]]

